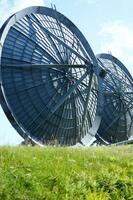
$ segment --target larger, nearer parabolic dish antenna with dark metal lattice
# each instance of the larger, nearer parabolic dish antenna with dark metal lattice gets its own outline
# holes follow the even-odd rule
[[[92,126],[98,87],[97,61],[79,29],[56,10],[30,7],[12,15],[0,37],[1,105],[12,125],[43,144],[79,142]]]

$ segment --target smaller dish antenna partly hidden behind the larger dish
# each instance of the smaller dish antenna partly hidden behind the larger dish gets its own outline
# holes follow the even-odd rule
[[[99,66],[106,72],[103,80],[104,99],[100,139],[117,143],[133,134],[133,78],[126,67],[110,54],[97,55]]]

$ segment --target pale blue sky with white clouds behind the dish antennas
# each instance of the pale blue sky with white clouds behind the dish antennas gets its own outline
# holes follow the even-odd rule
[[[82,31],[95,54],[111,51],[133,75],[132,0],[0,0],[0,26],[16,11],[51,3]],[[0,145],[21,141],[0,107]]]

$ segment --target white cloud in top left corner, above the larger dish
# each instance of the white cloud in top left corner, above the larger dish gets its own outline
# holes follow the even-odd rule
[[[0,0],[0,26],[10,15],[28,6],[44,6],[44,0]]]

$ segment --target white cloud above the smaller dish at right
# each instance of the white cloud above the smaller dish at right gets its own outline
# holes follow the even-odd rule
[[[100,51],[111,51],[133,75],[133,26],[120,21],[104,24],[99,31]]]

